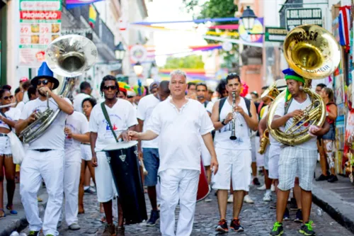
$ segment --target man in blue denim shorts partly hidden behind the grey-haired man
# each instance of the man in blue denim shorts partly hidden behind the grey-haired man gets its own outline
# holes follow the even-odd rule
[[[155,94],[149,94],[140,99],[139,104],[137,105],[137,121],[139,123],[138,131],[147,130],[147,124],[152,116],[152,111],[161,101],[167,99],[169,95],[169,82],[163,81],[159,84]],[[152,213],[147,221],[147,226],[154,226],[156,225],[156,220],[159,219],[159,210],[157,209],[156,202],[157,171],[160,165],[159,138],[157,137],[151,141],[142,141],[141,147],[142,151],[139,150],[139,159],[144,157],[144,166],[147,169],[144,185],[147,186],[147,193],[149,195],[150,203],[152,204]]]

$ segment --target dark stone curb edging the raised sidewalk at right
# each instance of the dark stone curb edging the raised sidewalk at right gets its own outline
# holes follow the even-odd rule
[[[312,201],[328,213],[333,220],[336,220],[336,222],[343,225],[343,227],[346,227],[346,229],[350,230],[350,232],[354,233],[354,218],[352,214],[342,213],[343,210],[338,209],[335,206],[335,203],[329,203],[329,201],[326,201],[326,196],[321,194],[321,191],[319,190],[315,191],[314,189],[312,192]],[[348,208],[349,206],[345,206],[345,204],[343,204],[343,207]],[[350,206],[350,208],[353,207]]]

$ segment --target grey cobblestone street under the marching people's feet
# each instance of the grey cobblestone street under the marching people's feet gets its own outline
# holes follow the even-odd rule
[[[258,191],[255,186],[251,186],[251,197],[255,201],[254,204],[244,203],[241,213],[241,224],[244,226],[244,232],[229,232],[228,235],[269,235],[270,227],[275,220],[275,210],[270,209],[270,203],[262,201],[264,191]],[[275,193],[273,193],[273,196]],[[145,195],[147,198],[147,194]],[[79,225],[81,230],[71,231],[67,230],[66,223],[62,223],[59,228],[60,235],[74,236],[74,235],[102,235],[104,225],[101,223],[102,216],[99,213],[99,205],[97,203],[96,195],[86,195],[85,200],[85,214],[79,215]],[[211,202],[197,203],[195,221],[192,235],[217,235],[215,232],[215,225],[219,220],[219,213],[217,209],[217,199],[212,193]],[[150,211],[149,201],[148,212]],[[334,236],[334,235],[353,235],[345,227],[336,223],[328,214],[322,212],[318,215],[319,207],[313,204],[311,220],[314,220],[314,230],[316,235]],[[179,209],[177,208],[177,211]],[[299,230],[299,223],[294,223],[295,211],[290,211],[290,221],[285,222],[284,235],[301,235]],[[148,213],[149,215],[149,213]],[[228,204],[227,220],[228,224],[232,218],[232,204]],[[116,223],[116,222],[115,222]],[[128,225],[125,227],[125,235],[161,235],[159,232],[159,223],[154,227],[147,227],[144,223],[140,225]],[[25,230],[28,232],[28,229]]]

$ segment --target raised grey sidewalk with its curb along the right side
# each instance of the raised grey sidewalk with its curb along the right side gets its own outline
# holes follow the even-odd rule
[[[316,177],[321,174],[319,164]],[[354,186],[348,178],[338,176],[338,181],[315,181],[312,190],[313,201],[338,223],[354,232]]]

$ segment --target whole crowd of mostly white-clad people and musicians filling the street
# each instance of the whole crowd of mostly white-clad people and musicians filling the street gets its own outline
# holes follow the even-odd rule
[[[292,69],[283,71],[276,88],[287,91],[287,98],[276,108],[272,129],[289,128],[294,118],[303,115],[311,98],[303,91],[304,79]],[[205,83],[187,83],[181,70],[171,72],[169,81],[154,82],[149,87],[125,89],[111,75],[103,77],[98,101],[91,96],[91,85],[82,82],[76,96],[62,98],[53,92],[59,81],[44,62],[38,76],[21,79],[11,95],[10,86],[0,90],[0,218],[6,211],[16,215],[13,194],[16,181],[29,235],[59,235],[57,227],[64,218],[70,230],[79,230],[77,215],[84,214],[84,193],[97,194],[105,235],[124,235],[125,218],[113,174],[104,151],[117,139],[138,140],[138,159],[147,175],[142,174],[152,206],[147,227],[160,220],[161,235],[185,236],[193,229],[193,219],[200,178],[200,159],[205,168],[210,194],[217,196],[218,232],[244,231],[240,213],[243,203],[253,203],[249,186],[265,191],[263,201],[277,194],[277,218],[270,235],[281,235],[283,220],[290,220],[290,210],[297,210],[295,222],[304,235],[314,235],[309,213],[312,204],[312,179],[319,155],[322,174],[316,181],[337,181],[333,159],[334,120],[337,108],[333,91],[317,84],[316,93],[326,104],[326,123],[310,132],[311,140],[301,145],[282,145],[272,135],[265,153],[258,152],[268,127],[268,110],[274,97],[265,86],[262,96],[256,91],[240,96],[238,74],[222,79],[216,91]],[[142,91],[146,91],[142,96]],[[48,106],[57,118],[36,140],[23,144],[25,157],[21,166],[13,164],[8,133],[20,134]],[[302,128],[311,125],[305,124]],[[236,139],[231,140],[232,130]],[[319,154],[318,154],[319,153]],[[264,184],[258,175],[264,175]],[[4,177],[8,201],[4,208]],[[90,183],[93,181],[93,188]],[[44,220],[38,213],[38,189],[45,184],[48,202]],[[293,189],[293,190],[292,190]],[[290,190],[293,196],[290,197]],[[64,198],[63,198],[64,197]],[[118,225],[113,223],[118,204]],[[64,203],[63,203],[63,199]],[[274,199],[275,200],[275,199]],[[212,203],[208,196],[202,201]],[[233,204],[232,219],[227,223],[227,203]],[[64,204],[64,215],[63,211]],[[180,216],[175,230],[175,209]],[[216,203],[215,203],[216,204]]]

